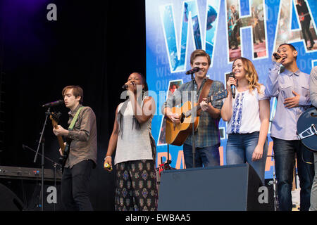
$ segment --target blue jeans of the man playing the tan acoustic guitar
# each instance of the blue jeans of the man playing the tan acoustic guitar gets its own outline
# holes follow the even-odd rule
[[[208,146],[196,148],[195,150],[195,168],[196,167],[214,167],[220,165],[219,144],[216,146]],[[183,146],[184,160],[186,168],[192,168],[192,146],[184,143]]]

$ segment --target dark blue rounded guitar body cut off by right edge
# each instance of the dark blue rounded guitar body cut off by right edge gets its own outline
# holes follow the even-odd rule
[[[317,110],[307,109],[297,120],[297,137],[304,146],[317,153]]]

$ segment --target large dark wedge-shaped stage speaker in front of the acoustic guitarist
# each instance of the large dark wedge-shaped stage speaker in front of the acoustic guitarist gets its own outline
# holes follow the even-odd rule
[[[249,164],[166,170],[158,210],[273,211],[271,196]]]

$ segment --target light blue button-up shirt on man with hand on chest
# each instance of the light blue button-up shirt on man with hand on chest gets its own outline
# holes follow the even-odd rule
[[[280,63],[273,62],[266,80],[265,94],[268,97],[277,97],[275,116],[271,124],[271,136],[283,140],[298,140],[297,120],[311,105],[309,97],[309,75],[297,70],[290,72],[285,69],[280,73]],[[286,108],[285,98],[292,98],[295,91],[300,95],[299,106]]]

